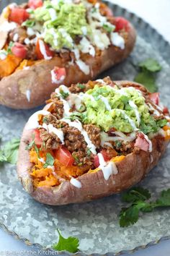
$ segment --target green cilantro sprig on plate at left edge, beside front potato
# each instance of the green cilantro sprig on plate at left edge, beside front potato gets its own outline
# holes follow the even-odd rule
[[[4,145],[0,150],[0,163],[17,163],[19,143],[19,139],[13,139]]]

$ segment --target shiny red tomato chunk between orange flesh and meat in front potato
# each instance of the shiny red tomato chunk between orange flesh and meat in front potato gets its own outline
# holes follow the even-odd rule
[[[64,166],[72,166],[74,162],[74,158],[71,155],[70,151],[65,147],[61,147],[54,152],[55,158],[58,159],[59,162],[63,163]]]

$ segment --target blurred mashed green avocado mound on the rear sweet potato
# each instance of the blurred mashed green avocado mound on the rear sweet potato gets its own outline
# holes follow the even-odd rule
[[[67,1],[45,1],[43,7],[35,9],[35,20],[43,22],[44,40],[55,50],[73,48],[76,35],[87,30],[84,4]]]

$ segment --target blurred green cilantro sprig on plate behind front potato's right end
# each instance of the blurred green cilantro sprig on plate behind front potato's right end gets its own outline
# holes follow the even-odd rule
[[[156,61],[156,59],[146,59],[138,64],[140,67],[140,72],[135,77],[135,82],[139,82],[146,86],[146,88],[151,92],[156,92],[156,72],[161,70],[161,65]]]

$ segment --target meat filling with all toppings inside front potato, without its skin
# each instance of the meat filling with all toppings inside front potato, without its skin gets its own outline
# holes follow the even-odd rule
[[[30,175],[36,187],[54,187],[87,172],[117,174],[115,162],[139,150],[152,152],[151,139],[169,140],[169,111],[158,93],[143,87],[120,87],[109,77],[86,84],[61,85],[48,111],[37,111],[32,129]]]

